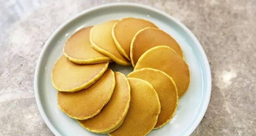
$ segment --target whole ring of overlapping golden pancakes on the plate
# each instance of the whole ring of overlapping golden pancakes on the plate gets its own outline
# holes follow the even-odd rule
[[[134,71],[126,77],[108,69],[110,62]],[[175,39],[128,17],[75,32],[51,79],[60,110],[88,131],[145,136],[171,120],[190,74]]]

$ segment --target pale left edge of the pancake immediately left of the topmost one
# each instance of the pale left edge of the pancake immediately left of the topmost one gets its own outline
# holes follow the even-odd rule
[[[96,25],[96,26],[98,26],[98,25]],[[96,26],[94,26],[94,27],[96,27]],[[129,66],[129,65],[131,65],[131,63],[130,63],[128,60],[127,60],[127,62],[126,62],[126,61],[122,61],[122,60],[118,59],[116,56],[114,56],[113,54],[109,53],[108,51],[105,51],[105,50],[101,49],[100,47],[98,47],[98,46],[93,42],[93,40],[91,39],[91,32],[93,31],[94,27],[91,28],[91,31],[90,31],[90,43],[91,43],[91,47],[93,47],[96,51],[100,52],[101,54],[110,57],[114,62],[116,62],[116,63],[119,64],[119,65],[124,65],[124,66]],[[111,34],[111,36],[112,36],[112,34]],[[113,37],[112,37],[112,38],[113,38]],[[116,47],[116,45],[115,45],[115,47]],[[118,50],[118,51],[119,51],[119,50]],[[119,53],[120,53],[120,52],[119,52]],[[120,53],[120,55],[123,56],[121,53]],[[124,58],[125,58],[125,57],[124,57]],[[126,59],[126,58],[125,58],[125,59]]]

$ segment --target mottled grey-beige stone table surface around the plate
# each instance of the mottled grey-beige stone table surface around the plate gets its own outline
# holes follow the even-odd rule
[[[118,1],[0,0],[0,136],[53,135],[34,98],[39,53],[61,23]],[[209,107],[193,136],[256,135],[256,1],[131,0],[184,23],[198,38],[212,71]]]

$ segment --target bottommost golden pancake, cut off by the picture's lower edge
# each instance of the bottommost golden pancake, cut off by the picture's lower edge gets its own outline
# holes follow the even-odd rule
[[[160,102],[153,86],[145,80],[127,78],[131,101],[123,124],[110,136],[145,136],[154,128],[160,113]]]

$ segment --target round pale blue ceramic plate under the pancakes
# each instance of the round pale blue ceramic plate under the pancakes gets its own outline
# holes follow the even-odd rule
[[[65,41],[77,30],[124,17],[143,18],[152,21],[160,29],[169,33],[180,44],[185,61],[190,68],[190,85],[179,100],[173,119],[149,136],[189,136],[202,120],[211,95],[211,71],[207,57],[197,38],[179,21],[154,8],[130,4],[114,3],[86,10],[63,23],[47,40],[40,53],[34,76],[35,99],[39,111],[56,136],[96,136],[85,130],[76,120],[61,112],[57,105],[56,93],[51,83],[54,63],[62,55]],[[110,65],[114,71],[128,74],[132,67]],[[105,134],[106,135],[106,134]]]

